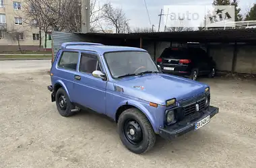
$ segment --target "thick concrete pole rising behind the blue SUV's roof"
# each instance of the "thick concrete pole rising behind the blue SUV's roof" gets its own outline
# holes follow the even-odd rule
[[[81,32],[90,32],[90,0],[81,0]]]

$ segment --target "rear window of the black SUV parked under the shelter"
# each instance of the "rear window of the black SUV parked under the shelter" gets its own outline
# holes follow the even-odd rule
[[[172,49],[172,48],[165,48],[161,54],[161,57],[162,58],[179,59],[179,58],[188,58],[189,54],[188,54],[187,50],[177,50],[177,49]]]

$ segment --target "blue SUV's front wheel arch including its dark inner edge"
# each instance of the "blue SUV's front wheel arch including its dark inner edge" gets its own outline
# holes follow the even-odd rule
[[[119,104],[119,108],[117,108],[115,113],[115,122],[118,122],[119,116],[127,109],[129,108],[137,108],[139,111],[141,111],[146,118],[150,121],[150,124],[152,128],[154,129],[154,132],[158,132],[158,128],[156,128],[154,116],[143,106],[141,103],[138,103],[137,101],[123,101]]]

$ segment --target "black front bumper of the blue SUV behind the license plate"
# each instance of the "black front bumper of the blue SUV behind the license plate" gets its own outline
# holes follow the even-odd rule
[[[201,114],[198,114],[198,116],[196,118],[193,118],[193,120],[184,120],[171,126],[166,126],[165,128],[159,128],[159,135],[165,139],[176,138],[178,136],[186,134],[187,132],[195,130],[196,122],[199,122],[207,116],[210,116],[210,118],[212,118],[213,116],[218,114],[218,112],[219,108],[209,106],[207,110],[205,110]]]

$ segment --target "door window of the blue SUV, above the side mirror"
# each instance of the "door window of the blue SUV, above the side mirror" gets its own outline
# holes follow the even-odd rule
[[[79,71],[83,73],[92,73],[93,71],[100,71],[100,64],[98,58],[94,54],[81,53],[81,60]]]

